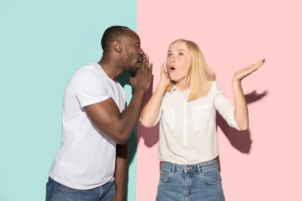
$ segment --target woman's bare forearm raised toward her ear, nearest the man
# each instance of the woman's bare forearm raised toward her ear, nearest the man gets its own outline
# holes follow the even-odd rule
[[[149,128],[156,122],[161,107],[163,95],[167,86],[160,82],[155,90],[154,94],[141,111],[141,125]]]

